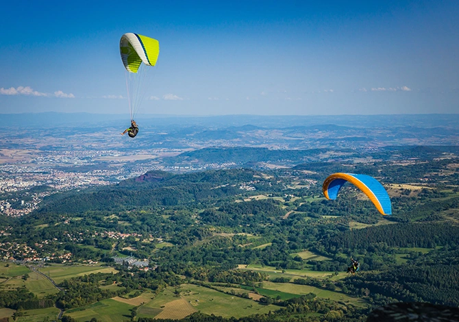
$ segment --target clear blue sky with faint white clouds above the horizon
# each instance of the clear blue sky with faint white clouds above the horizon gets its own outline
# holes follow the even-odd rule
[[[0,113],[128,114],[125,32],[160,42],[143,113],[459,112],[459,1],[318,2],[3,3]]]

